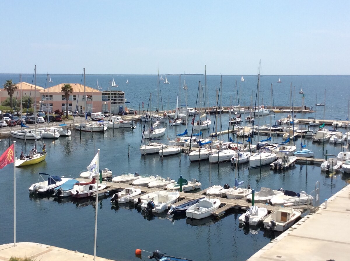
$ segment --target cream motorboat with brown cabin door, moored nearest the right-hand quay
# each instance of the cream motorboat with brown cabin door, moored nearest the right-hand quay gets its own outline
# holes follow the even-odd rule
[[[300,210],[281,208],[274,210],[264,219],[264,227],[267,230],[285,231],[291,227],[301,216]]]

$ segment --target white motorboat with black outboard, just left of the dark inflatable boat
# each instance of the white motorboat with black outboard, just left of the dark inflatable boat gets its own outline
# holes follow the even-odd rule
[[[146,212],[161,213],[174,204],[180,197],[177,191],[155,191],[134,199],[135,206],[140,205]]]

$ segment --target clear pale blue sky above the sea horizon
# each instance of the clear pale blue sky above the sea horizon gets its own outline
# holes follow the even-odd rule
[[[350,74],[350,1],[1,1],[0,73]]]

